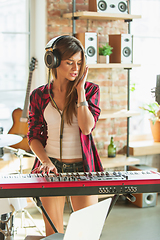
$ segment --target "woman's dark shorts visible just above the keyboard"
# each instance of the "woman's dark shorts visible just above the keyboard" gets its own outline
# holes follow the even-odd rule
[[[52,163],[57,168],[59,173],[62,172],[84,172],[83,162],[77,163],[63,163],[58,161],[56,158],[49,157]]]

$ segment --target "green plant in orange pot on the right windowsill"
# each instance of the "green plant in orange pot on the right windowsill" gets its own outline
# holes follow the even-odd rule
[[[154,142],[160,142],[160,105],[157,102],[145,104],[141,109],[151,114],[150,126]]]

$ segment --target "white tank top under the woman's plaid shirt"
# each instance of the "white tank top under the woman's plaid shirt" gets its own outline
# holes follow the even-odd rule
[[[49,157],[60,159],[60,125],[61,116],[51,102],[44,110],[44,118],[48,127],[48,139],[45,146]],[[82,158],[78,120],[74,116],[72,125],[64,122],[62,138],[62,159]]]

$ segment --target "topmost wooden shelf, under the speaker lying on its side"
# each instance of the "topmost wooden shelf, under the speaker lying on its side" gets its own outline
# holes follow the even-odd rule
[[[73,17],[73,13],[65,13],[63,14],[63,18],[71,19]],[[123,13],[98,13],[98,12],[75,12],[74,17],[80,19],[95,19],[95,20],[132,20],[141,18],[141,15],[131,15],[131,14],[123,14]]]

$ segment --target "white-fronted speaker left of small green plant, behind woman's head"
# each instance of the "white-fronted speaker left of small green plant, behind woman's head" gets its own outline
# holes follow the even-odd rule
[[[87,64],[96,64],[98,60],[98,35],[94,32],[76,33],[75,37],[82,43]]]

